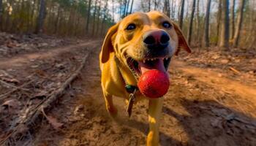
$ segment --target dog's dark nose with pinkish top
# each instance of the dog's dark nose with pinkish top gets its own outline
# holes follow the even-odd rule
[[[147,47],[162,47],[165,48],[169,45],[170,37],[163,30],[147,31],[143,35],[143,42]]]

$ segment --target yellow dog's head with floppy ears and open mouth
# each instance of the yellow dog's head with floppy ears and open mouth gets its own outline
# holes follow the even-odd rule
[[[114,52],[135,76],[148,69],[166,72],[178,47],[191,53],[180,28],[161,12],[136,12],[112,26],[102,46],[101,62]]]

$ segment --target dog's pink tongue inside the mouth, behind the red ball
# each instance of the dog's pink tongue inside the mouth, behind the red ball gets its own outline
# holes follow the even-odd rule
[[[166,72],[164,61],[162,59],[150,61],[150,63],[147,63],[147,62],[143,63],[142,61],[139,61],[138,63],[139,63],[139,68],[140,68],[141,74],[143,74],[144,72],[146,72],[150,69],[157,69],[161,72]]]

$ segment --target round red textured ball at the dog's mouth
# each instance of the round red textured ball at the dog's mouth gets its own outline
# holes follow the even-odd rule
[[[170,85],[167,73],[157,69],[150,69],[144,72],[138,80],[138,88],[144,96],[157,99],[167,93]]]

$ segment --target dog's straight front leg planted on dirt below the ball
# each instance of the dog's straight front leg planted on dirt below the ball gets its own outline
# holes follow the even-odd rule
[[[163,98],[151,99],[148,104],[149,133],[147,146],[158,145],[159,142],[159,120],[162,114]]]

